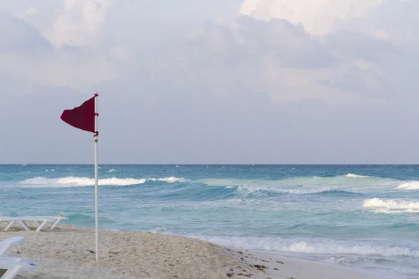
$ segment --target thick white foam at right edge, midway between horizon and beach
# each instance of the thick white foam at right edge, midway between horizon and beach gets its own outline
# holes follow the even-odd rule
[[[366,199],[362,207],[374,209],[377,213],[418,213],[419,202],[409,202],[402,199]]]

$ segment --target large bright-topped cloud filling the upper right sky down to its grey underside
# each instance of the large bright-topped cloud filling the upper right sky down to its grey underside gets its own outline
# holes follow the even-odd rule
[[[208,22],[187,37],[183,50],[160,59],[164,66],[154,68],[153,77],[177,84],[216,80],[220,88],[242,82],[275,102],[388,104],[397,87],[404,89],[399,94],[417,87],[411,73],[418,66],[411,58],[418,55],[419,40],[412,36],[418,31],[409,10],[418,6],[381,0],[244,1],[235,25]],[[325,17],[327,24],[311,24],[304,16],[308,10],[314,11],[314,23]]]

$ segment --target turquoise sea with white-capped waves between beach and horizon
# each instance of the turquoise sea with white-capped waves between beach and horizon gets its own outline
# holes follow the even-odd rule
[[[417,165],[100,165],[103,229],[419,278]],[[0,216],[94,227],[92,165],[0,165]]]

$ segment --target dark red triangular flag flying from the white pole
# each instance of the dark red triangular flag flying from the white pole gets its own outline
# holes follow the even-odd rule
[[[82,103],[80,107],[73,108],[73,110],[64,110],[61,114],[61,120],[75,128],[97,135],[98,132],[94,128],[94,117],[98,115],[94,112],[94,98],[97,96],[98,94],[94,94],[93,98]]]

